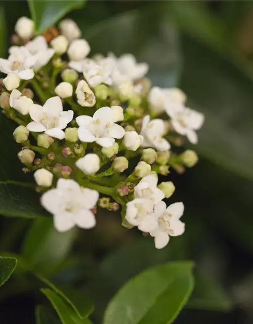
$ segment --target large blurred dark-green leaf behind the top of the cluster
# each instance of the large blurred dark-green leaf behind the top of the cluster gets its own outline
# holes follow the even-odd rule
[[[108,18],[83,34],[93,53],[132,53],[139,62],[149,63],[154,84],[176,84],[181,63],[178,32],[163,6]]]

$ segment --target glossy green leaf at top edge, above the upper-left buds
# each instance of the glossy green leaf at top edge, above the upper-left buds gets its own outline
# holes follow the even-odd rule
[[[35,32],[41,33],[55,24],[59,19],[73,9],[79,9],[85,5],[86,0],[27,0],[32,20],[35,24]]]

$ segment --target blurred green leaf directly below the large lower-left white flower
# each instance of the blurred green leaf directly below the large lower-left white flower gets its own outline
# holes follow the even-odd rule
[[[68,254],[75,236],[75,228],[58,232],[52,218],[35,220],[23,244],[23,257],[39,274],[53,272]]]

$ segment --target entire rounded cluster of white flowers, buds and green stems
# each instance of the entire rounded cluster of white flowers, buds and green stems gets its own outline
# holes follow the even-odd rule
[[[56,229],[92,228],[100,207],[121,209],[123,226],[149,233],[158,249],[181,235],[184,205],[166,207],[175,186],[158,184],[158,175],[196,164],[196,153],[181,147],[184,136],[197,143],[204,116],[181,90],[152,88],[148,64],[132,54],[88,58],[72,20],[33,37],[33,21],[22,17],[15,32],[0,59],[0,106],[19,124],[18,158]]]

